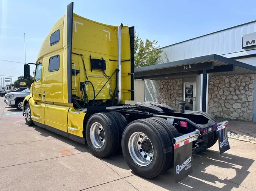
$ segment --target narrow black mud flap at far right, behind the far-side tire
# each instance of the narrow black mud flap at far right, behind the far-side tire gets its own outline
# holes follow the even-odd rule
[[[230,149],[229,142],[228,142],[228,123],[221,122],[218,124],[218,140],[219,140],[219,149],[220,154]]]

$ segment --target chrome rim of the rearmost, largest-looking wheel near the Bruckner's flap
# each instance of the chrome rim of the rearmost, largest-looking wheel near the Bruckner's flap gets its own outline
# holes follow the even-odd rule
[[[139,166],[148,166],[154,157],[154,149],[148,136],[142,132],[134,132],[128,141],[128,149],[132,160]]]

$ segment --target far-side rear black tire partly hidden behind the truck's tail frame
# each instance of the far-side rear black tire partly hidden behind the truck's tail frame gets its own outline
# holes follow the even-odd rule
[[[214,117],[212,117],[210,114],[203,112],[203,111],[192,111],[192,112],[187,112],[187,113],[192,113],[192,114],[199,114],[207,117],[208,119],[212,120],[214,123],[217,123]],[[218,132],[217,131],[212,131],[207,133],[206,135],[203,136],[204,141],[198,143],[200,146],[207,146],[207,148],[212,147],[218,140]]]

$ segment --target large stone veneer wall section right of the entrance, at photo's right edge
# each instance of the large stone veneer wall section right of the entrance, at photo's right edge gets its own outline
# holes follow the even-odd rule
[[[208,113],[216,119],[253,119],[254,75],[209,76]]]

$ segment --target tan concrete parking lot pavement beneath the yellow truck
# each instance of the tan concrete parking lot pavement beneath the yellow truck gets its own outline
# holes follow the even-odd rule
[[[255,190],[256,144],[230,139],[221,155],[215,144],[193,156],[193,173],[176,184],[172,169],[143,179],[121,153],[98,159],[5,106],[0,97],[0,190]]]

